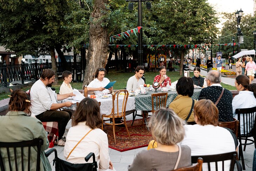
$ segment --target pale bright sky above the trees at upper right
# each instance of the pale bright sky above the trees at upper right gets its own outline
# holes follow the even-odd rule
[[[242,8],[243,15],[251,14],[253,15],[253,0],[208,0],[211,6],[214,7],[217,13],[228,12],[234,13]],[[225,22],[222,18],[219,19],[221,23]],[[218,28],[222,27],[222,24],[217,24]]]

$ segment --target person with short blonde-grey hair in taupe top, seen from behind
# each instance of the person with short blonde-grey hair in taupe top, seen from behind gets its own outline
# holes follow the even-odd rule
[[[156,111],[149,121],[149,127],[157,141],[157,148],[139,152],[128,166],[128,171],[170,171],[191,166],[190,148],[187,145],[177,145],[184,138],[183,124],[183,120],[171,109],[162,108]]]

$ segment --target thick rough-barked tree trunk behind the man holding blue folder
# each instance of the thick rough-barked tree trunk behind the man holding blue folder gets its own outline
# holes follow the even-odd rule
[[[108,30],[103,26],[107,15],[107,0],[94,0],[92,21],[89,28],[89,48],[86,57],[84,85],[93,80],[93,75],[98,67],[105,67],[108,59]]]

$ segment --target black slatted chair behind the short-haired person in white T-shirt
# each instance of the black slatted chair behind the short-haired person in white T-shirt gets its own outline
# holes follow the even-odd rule
[[[228,160],[230,160],[229,171],[234,171],[235,164],[237,171],[242,171],[241,164],[236,160],[236,151],[216,155],[191,156],[192,164],[197,162],[198,157],[203,158],[203,163],[207,163],[208,171],[213,171],[211,168],[215,168],[216,171],[222,168],[222,171],[224,171],[224,162],[228,162]]]

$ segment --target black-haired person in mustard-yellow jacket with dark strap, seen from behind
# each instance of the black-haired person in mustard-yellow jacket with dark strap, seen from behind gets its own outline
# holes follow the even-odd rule
[[[191,98],[194,93],[193,80],[190,77],[181,77],[176,84],[176,91],[178,96],[171,102],[169,108],[173,109],[181,119],[187,122],[194,122],[194,113],[192,111],[194,99]],[[196,102],[197,100],[194,100],[194,104]]]

